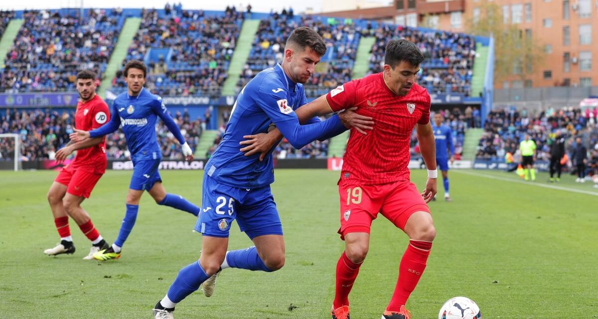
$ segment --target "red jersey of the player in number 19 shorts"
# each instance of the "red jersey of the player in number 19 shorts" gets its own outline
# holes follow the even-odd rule
[[[416,123],[430,121],[430,95],[417,84],[405,96],[393,93],[382,72],[345,83],[326,95],[333,111],[358,107],[374,129],[363,135],[351,129],[341,181],[386,184],[409,180],[409,144]]]

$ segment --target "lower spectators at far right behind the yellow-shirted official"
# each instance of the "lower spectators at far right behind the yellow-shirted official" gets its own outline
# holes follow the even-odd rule
[[[550,160],[550,143],[554,133],[559,130],[565,136],[565,151],[569,159],[576,148],[576,138],[581,138],[582,145],[588,150],[588,176],[598,175],[598,108],[580,110],[564,108],[562,110],[542,110],[538,112],[506,108],[492,111],[486,118],[484,133],[478,144],[478,159],[504,159],[511,153],[515,159],[520,157],[519,143],[529,135],[536,143],[536,159]],[[576,163],[570,163],[574,166]]]

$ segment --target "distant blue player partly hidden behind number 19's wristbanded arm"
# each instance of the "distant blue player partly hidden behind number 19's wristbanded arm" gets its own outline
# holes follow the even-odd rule
[[[434,138],[436,139],[436,165],[443,172],[444,200],[450,202],[449,195],[449,160],[454,162],[453,134],[450,127],[443,124],[443,116],[440,113],[434,115]],[[450,156],[449,156],[450,151]]]

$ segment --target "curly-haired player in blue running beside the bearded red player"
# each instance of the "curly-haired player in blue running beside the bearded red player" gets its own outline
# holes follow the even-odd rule
[[[118,95],[112,105],[112,118],[98,129],[84,131],[75,130],[71,139],[82,140],[96,138],[114,132],[123,126],[123,133],[127,139],[127,146],[133,161],[133,177],[127,194],[127,210],[118,238],[106,250],[100,250],[93,255],[97,260],[117,259],[121,256],[121,247],[127,240],[135,225],[139,211],[139,200],[147,190],[158,205],[166,205],[193,215],[199,215],[200,208],[182,196],[168,194],[162,186],[158,166],[162,159],[160,146],[155,135],[155,121],[158,117],[166,124],[170,132],[181,143],[185,159],[192,160],[193,152],[181,130],[170,117],[160,96],[149,93],[144,89],[147,68],[143,62],[132,60],[124,66],[124,78],[127,82],[127,92]]]

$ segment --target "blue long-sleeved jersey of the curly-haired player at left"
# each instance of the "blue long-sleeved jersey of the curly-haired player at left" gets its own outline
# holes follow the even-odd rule
[[[161,159],[162,153],[156,140],[155,121],[160,117],[179,143],[185,144],[181,130],[162,103],[162,98],[142,88],[137,96],[127,92],[117,96],[112,104],[112,118],[108,123],[89,132],[91,138],[106,135],[122,124],[127,147],[132,159]]]

